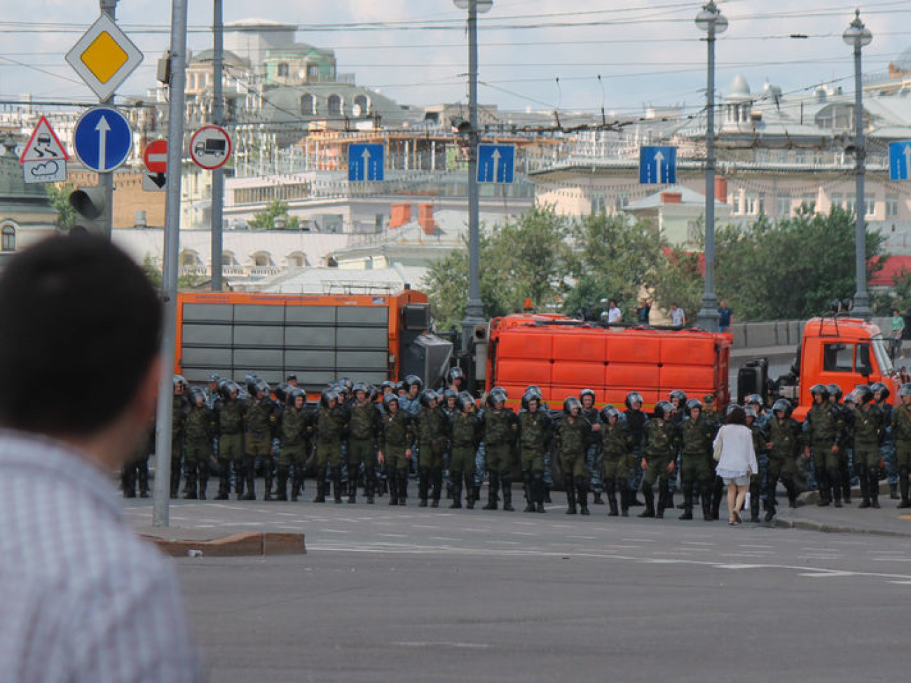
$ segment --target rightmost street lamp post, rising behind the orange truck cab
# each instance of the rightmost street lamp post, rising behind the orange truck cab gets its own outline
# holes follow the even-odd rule
[[[870,45],[873,34],[860,20],[860,10],[855,11],[854,21],[842,36],[844,42],[855,48],[855,291],[854,313],[860,318],[869,318],[870,298],[866,291],[866,200],[864,197],[864,176],[866,172],[866,148],[864,147],[864,85],[861,81],[861,48]]]

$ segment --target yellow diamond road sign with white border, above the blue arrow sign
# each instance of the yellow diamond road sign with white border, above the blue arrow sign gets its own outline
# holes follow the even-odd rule
[[[101,15],[67,53],[67,62],[105,100],[142,64],[142,52],[109,16]]]

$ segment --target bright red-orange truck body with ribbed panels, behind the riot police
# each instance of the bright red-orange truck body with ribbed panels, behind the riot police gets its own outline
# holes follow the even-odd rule
[[[730,400],[732,337],[700,330],[608,327],[563,315],[518,314],[495,318],[487,331],[486,389],[504,387],[517,403],[537,384],[551,407],[583,388],[598,404],[620,407],[640,392],[648,408],[680,389],[701,398]]]

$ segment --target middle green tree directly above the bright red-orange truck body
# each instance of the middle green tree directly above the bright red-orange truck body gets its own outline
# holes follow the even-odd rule
[[[563,310],[572,314],[601,299],[616,299],[621,311],[638,306],[642,288],[650,286],[664,260],[658,229],[602,212],[577,219],[569,233],[568,274],[575,284]],[[631,320],[627,313],[626,321]]]

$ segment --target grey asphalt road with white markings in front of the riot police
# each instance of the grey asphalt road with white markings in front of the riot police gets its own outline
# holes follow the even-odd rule
[[[906,538],[384,504],[173,506],[174,525],[307,535],[306,556],[178,560],[211,680],[891,681],[911,664]]]

